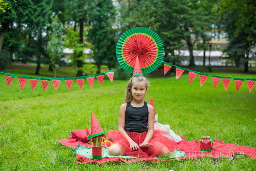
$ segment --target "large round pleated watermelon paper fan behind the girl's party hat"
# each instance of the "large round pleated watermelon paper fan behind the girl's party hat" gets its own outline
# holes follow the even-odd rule
[[[153,30],[134,27],[125,31],[118,39],[116,57],[123,69],[133,73],[137,56],[143,75],[154,71],[161,64],[163,43]]]

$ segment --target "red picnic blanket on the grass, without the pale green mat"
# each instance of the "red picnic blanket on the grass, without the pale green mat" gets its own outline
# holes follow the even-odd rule
[[[71,133],[72,133],[72,136],[68,137],[67,140],[57,140],[57,142],[60,142],[61,144],[70,148],[78,147],[78,144],[80,144],[80,146],[86,146],[87,142],[89,142],[86,136],[84,136],[86,135],[84,129],[73,130]],[[236,153],[244,154],[253,159],[256,159],[256,148],[237,146],[235,144],[225,144],[224,142],[218,141],[216,140],[217,138],[215,138],[211,152],[206,152],[206,151],[200,151],[200,145],[198,141],[195,141],[195,140],[187,141],[183,136],[180,136],[180,137],[182,138],[182,141],[177,142],[177,148],[183,151],[187,156],[178,158],[178,160],[195,159],[195,158],[204,157],[204,156],[208,156],[211,158],[221,158],[221,157],[230,158],[233,155],[236,155]],[[90,145],[88,145],[88,147],[90,147]],[[93,159],[89,159],[87,157],[81,156],[79,154],[76,154],[76,158],[78,159],[78,162],[76,162],[77,164],[92,163],[92,162],[102,164],[109,161],[118,161],[118,162],[123,161],[125,163],[132,163],[135,161],[152,161],[152,160],[155,162],[164,161],[163,159],[155,159],[155,158],[136,158],[136,159],[127,160],[127,159],[113,158],[113,157],[102,158],[101,160],[97,160],[97,159],[93,160]]]

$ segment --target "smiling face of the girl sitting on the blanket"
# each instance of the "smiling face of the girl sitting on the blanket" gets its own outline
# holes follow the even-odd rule
[[[132,92],[133,99],[142,100],[147,92],[145,83],[143,83],[143,82],[132,83],[131,92]]]

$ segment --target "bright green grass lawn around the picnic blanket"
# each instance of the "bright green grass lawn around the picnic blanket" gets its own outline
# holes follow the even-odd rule
[[[118,70],[119,71],[119,70]],[[117,72],[118,72],[117,71]],[[18,74],[18,73],[17,73]],[[218,76],[256,78],[256,75],[211,73]],[[24,74],[19,74],[24,75]],[[40,77],[40,76],[39,76]],[[105,75],[106,77],[106,75]],[[256,148],[256,85],[249,93],[244,82],[238,92],[234,80],[227,91],[211,77],[200,87],[199,76],[188,84],[188,74],[149,78],[145,100],[154,101],[158,121],[188,141],[201,136],[221,138],[225,143]],[[76,165],[70,148],[57,143],[71,131],[90,127],[93,112],[105,133],[117,129],[118,111],[127,81],[97,79],[92,89],[85,80],[82,91],[73,81],[68,91],[64,81],[54,92],[52,82],[45,92],[29,81],[20,91],[17,77],[7,88],[0,74],[0,170],[254,170],[256,160],[243,156],[234,160],[201,158],[160,163],[104,163]]]

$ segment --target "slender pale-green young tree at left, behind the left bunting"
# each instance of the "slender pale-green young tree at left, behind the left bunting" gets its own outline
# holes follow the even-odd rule
[[[52,27],[52,30],[49,31],[48,35],[50,37],[47,43],[47,54],[50,57],[51,64],[53,66],[54,77],[56,77],[56,69],[59,68],[60,58],[63,56],[64,42],[63,34],[64,27],[61,24],[58,16],[55,15],[52,18],[52,23],[48,26]]]

